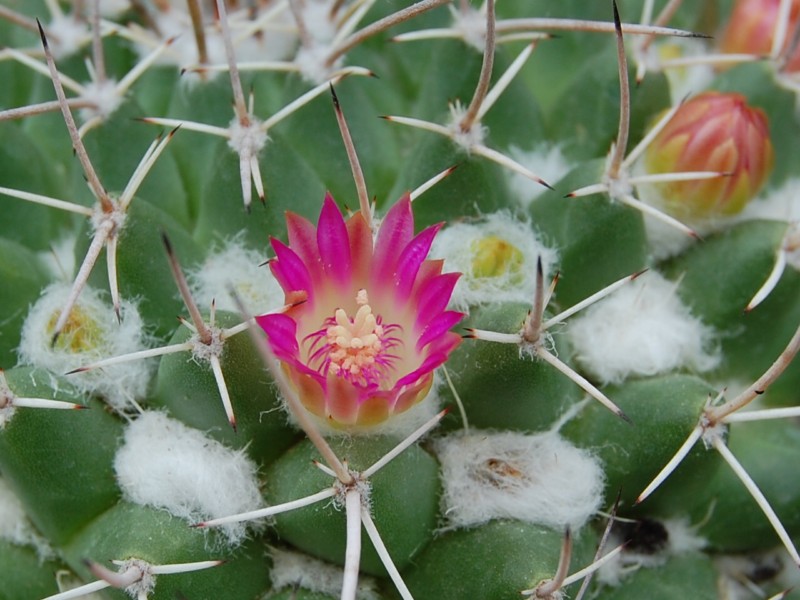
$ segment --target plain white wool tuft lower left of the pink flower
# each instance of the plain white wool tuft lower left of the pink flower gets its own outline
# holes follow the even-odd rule
[[[256,510],[264,504],[256,466],[243,452],[160,412],[146,412],[127,427],[114,469],[127,500],[190,521]],[[247,533],[243,523],[219,529],[231,545],[241,543]]]

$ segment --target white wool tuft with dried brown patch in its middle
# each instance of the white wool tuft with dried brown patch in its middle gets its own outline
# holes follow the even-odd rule
[[[598,460],[557,433],[456,433],[435,442],[447,528],[519,519],[580,528],[603,499]]]

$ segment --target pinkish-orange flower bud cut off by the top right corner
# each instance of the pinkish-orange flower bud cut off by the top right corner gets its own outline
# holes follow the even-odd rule
[[[739,0],[722,34],[720,50],[728,54],[769,54],[775,38],[781,0]],[[784,50],[800,19],[800,0],[792,0]],[[800,52],[794,52],[784,71],[800,71]]]

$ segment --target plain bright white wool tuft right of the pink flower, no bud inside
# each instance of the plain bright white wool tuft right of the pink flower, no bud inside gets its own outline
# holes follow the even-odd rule
[[[573,318],[567,335],[577,360],[603,383],[714,368],[713,330],[692,316],[676,287],[649,271]]]

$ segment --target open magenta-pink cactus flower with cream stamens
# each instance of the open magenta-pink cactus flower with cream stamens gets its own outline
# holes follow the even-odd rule
[[[408,195],[373,242],[361,213],[344,219],[326,195],[319,222],[287,213],[289,245],[272,239],[270,268],[287,303],[258,317],[300,400],[340,429],[379,424],[420,402],[433,371],[458,346],[447,310],[459,274],[426,259],[441,225],[414,236]]]

